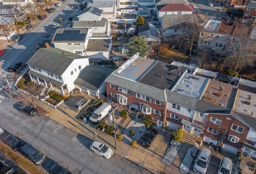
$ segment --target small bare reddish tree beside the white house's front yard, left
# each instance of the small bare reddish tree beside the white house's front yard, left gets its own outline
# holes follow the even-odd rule
[[[24,108],[26,106],[34,106],[34,101],[36,98],[38,98],[38,96],[40,96],[40,93],[44,89],[44,86],[34,84],[34,83],[29,83],[26,89],[29,95],[24,93],[19,93],[20,95],[16,95],[14,98],[18,102],[22,103],[21,108]]]

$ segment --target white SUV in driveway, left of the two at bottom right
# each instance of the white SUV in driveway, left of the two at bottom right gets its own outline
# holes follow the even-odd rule
[[[211,157],[211,151],[203,147],[198,153],[198,156],[196,158],[196,162],[194,165],[194,172],[205,174],[208,168],[210,157]]]

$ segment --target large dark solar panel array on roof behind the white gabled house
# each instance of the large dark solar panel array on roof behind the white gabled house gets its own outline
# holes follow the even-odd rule
[[[86,33],[80,30],[64,30],[63,33],[56,33],[54,41],[84,41]]]

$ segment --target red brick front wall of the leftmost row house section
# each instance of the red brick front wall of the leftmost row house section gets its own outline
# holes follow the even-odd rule
[[[165,111],[165,108],[167,107],[166,103],[162,103],[162,106],[159,106],[158,104],[154,104],[154,99],[151,99],[151,103],[150,103],[150,102],[147,102],[145,100],[141,100],[140,98],[136,98],[136,97],[134,97],[134,92],[132,92],[131,95],[124,94],[123,92],[118,91],[118,86],[114,86],[114,88],[110,88],[109,83],[106,83],[106,90],[107,90],[107,97],[109,99],[111,99],[112,101],[116,102],[116,103],[118,103],[116,94],[121,94],[123,96],[126,96],[128,104],[127,105],[121,105],[121,104],[118,103],[119,107],[120,108],[124,107],[124,109],[129,110],[129,103],[136,104],[136,105],[139,106],[139,114],[141,114],[141,115],[144,115],[144,113],[142,113],[140,111],[140,104],[139,103],[147,104],[148,106],[151,106],[153,109],[161,111],[161,114]],[[115,98],[111,97],[111,93],[115,94]],[[160,115],[154,114],[153,109],[152,109],[151,114],[147,114],[147,115],[150,116],[150,117],[153,117],[155,119],[164,121],[164,117],[161,117]],[[156,123],[156,121],[154,121],[154,122]]]

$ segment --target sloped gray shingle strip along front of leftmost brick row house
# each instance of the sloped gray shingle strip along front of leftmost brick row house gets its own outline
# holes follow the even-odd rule
[[[116,86],[120,86],[120,87],[123,87],[123,88],[126,88],[126,89],[129,89],[133,92],[144,94],[144,95],[146,95],[150,98],[159,100],[159,101],[164,102],[164,103],[167,102],[167,98],[166,98],[164,90],[160,90],[158,88],[154,88],[152,86],[142,84],[140,82],[135,82],[135,81],[132,81],[132,80],[128,80],[126,78],[122,78],[122,77],[117,76],[115,74],[111,74],[105,80],[105,82],[111,83],[111,84],[114,84]]]

